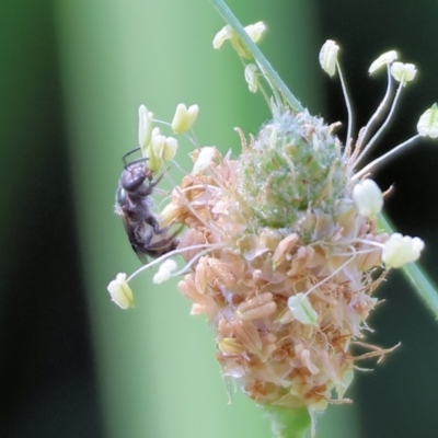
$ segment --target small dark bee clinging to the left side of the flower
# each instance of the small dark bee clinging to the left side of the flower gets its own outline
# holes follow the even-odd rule
[[[146,164],[147,158],[127,163],[126,158],[139,149],[123,157],[124,170],[118,182],[115,212],[122,217],[134,252],[142,264],[147,264],[148,255],[155,258],[176,249],[181,228],[171,232],[169,227],[160,227],[152,211],[151,195],[164,174],[153,180],[153,172]]]

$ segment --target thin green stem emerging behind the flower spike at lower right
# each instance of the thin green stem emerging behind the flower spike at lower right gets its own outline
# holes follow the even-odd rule
[[[383,215],[379,216],[379,224],[383,227],[387,232],[393,232],[392,224]],[[438,293],[433,281],[415,263],[403,266],[403,275],[438,319]]]

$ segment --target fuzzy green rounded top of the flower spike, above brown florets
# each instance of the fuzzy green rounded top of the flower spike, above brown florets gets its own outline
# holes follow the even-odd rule
[[[295,229],[309,209],[334,214],[348,187],[341,145],[320,117],[286,112],[240,158],[238,191],[261,227]]]

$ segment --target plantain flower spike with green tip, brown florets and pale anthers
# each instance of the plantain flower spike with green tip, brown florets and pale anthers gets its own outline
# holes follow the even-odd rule
[[[226,26],[216,44],[230,34]],[[320,60],[331,76],[337,68],[347,97],[337,51],[328,42]],[[384,54],[370,72],[385,66],[391,82],[395,58],[394,51]],[[414,74],[403,68],[393,106]],[[154,281],[184,274],[178,289],[192,301],[192,314],[206,315],[214,327],[223,378],[258,404],[314,417],[330,403],[349,402],[344,393],[360,360],[381,359],[395,348],[364,342],[378,303],[374,290],[389,268],[416,261],[424,243],[379,230],[383,196],[371,173],[388,153],[360,169],[393,114],[383,117],[393,95],[387,94],[356,140],[349,120],[343,143],[336,124],[290,108],[273,88],[272,118],[249,141],[237,129],[237,157],[193,141],[193,170],[160,215],[162,226],[186,232],[176,250],[139,270],[183,256],[182,270],[162,264]],[[436,119],[434,106],[418,122],[420,134],[394,150],[420,135],[433,137]]]

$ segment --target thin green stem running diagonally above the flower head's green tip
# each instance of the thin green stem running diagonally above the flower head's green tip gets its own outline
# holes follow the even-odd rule
[[[237,32],[242,42],[246,45],[246,48],[251,51],[254,59],[258,64],[260,69],[266,77],[269,78],[269,82],[273,88],[276,88],[283,96],[286,99],[290,107],[297,112],[302,112],[304,107],[301,105],[300,101],[290,92],[286,83],[281,80],[278,73],[274,70],[273,66],[265,58],[257,45],[250,38],[245,30],[243,28],[240,21],[232,13],[230,8],[222,0],[211,0],[215,8],[218,10],[219,14],[223,20]]]

